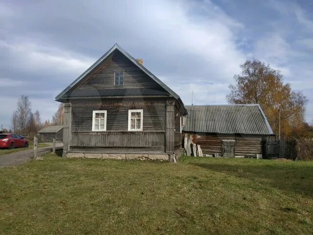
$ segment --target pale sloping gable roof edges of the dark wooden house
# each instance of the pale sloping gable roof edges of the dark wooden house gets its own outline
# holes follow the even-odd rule
[[[149,77],[151,77],[154,81],[156,81],[157,84],[159,84],[165,91],[167,91],[169,94],[171,94],[174,98],[177,100],[180,100],[179,95],[176,94],[172,89],[170,89],[168,86],[166,86],[161,80],[159,80],[152,72],[147,70],[143,65],[137,62],[136,59],[134,59],[129,53],[127,53],[122,47],[120,47],[118,44],[115,44],[110,50],[108,50],[103,56],[101,56],[100,59],[98,59],[93,65],[90,66],[88,70],[86,70],[83,74],[81,74],[75,81],[73,81],[64,91],[62,91],[60,94],[58,94],[55,99],[59,101],[63,96],[71,90],[73,87],[75,87],[80,81],[82,81],[85,77],[87,77],[92,71],[94,71],[99,65],[102,64],[103,61],[105,61],[114,50],[119,50],[123,55],[125,55],[130,61],[134,63],[139,69],[144,71]],[[181,102],[182,103],[182,102]]]

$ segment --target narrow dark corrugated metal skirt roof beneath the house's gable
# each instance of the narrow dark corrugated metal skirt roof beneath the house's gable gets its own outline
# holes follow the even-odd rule
[[[164,90],[155,88],[129,88],[129,89],[90,89],[74,90],[65,97],[98,97],[98,96],[125,96],[125,95],[162,95],[170,96]]]

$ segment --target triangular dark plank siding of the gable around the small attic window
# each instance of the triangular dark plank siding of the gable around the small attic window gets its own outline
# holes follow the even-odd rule
[[[124,71],[124,86],[114,86],[114,72]],[[81,89],[128,89],[159,88],[145,72],[135,66],[121,52],[115,51],[110,60],[95,71],[77,88]]]

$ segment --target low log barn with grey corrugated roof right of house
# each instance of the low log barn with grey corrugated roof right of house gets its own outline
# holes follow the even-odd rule
[[[265,139],[273,135],[260,105],[185,106],[182,130],[203,156],[260,157]],[[186,139],[185,138],[185,139]]]

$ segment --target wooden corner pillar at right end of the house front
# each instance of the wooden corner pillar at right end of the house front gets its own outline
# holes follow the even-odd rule
[[[167,154],[174,153],[174,135],[175,135],[175,101],[168,99],[166,101],[166,143],[165,152]]]

